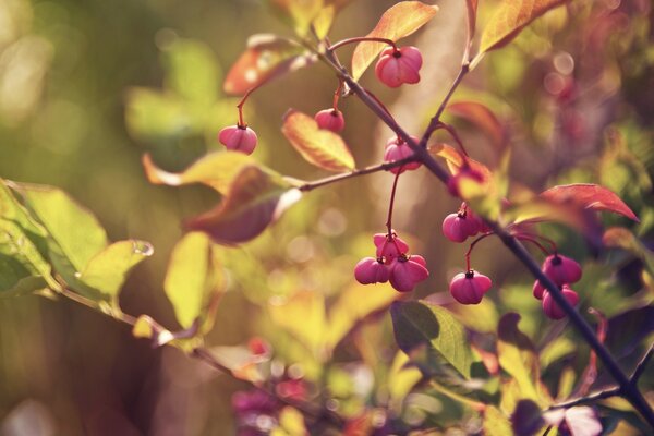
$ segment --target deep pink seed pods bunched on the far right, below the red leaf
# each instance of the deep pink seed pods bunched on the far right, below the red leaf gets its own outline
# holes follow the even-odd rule
[[[573,306],[577,305],[579,295],[570,289],[570,283],[581,279],[581,266],[576,261],[560,254],[553,254],[545,258],[543,272],[559,287],[568,303]],[[533,293],[534,298],[543,301],[543,312],[547,317],[552,319],[566,317],[564,310],[554,301],[538,280],[534,282]]]

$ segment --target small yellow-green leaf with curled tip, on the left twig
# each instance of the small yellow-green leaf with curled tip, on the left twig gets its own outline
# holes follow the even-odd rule
[[[145,241],[114,242],[90,259],[80,280],[100,291],[108,301],[116,301],[128,274],[154,253]]]

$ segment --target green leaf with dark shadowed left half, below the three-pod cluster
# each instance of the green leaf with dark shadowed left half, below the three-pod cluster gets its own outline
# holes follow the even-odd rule
[[[413,362],[439,373],[444,363],[470,378],[472,351],[463,326],[445,308],[425,302],[395,302],[390,306],[396,342]],[[425,355],[426,352],[426,355]]]

